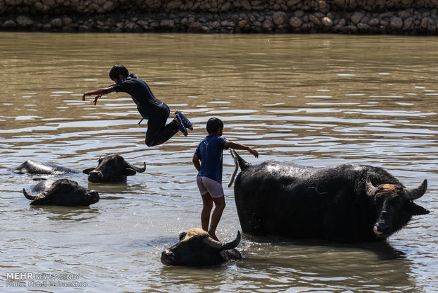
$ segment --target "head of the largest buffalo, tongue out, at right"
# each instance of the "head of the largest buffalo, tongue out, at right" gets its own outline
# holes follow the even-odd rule
[[[366,192],[378,207],[377,220],[373,227],[374,234],[380,239],[386,239],[408,224],[412,216],[429,214],[427,209],[413,202],[422,197],[426,189],[427,180],[424,180],[418,188],[410,189],[399,184],[381,184],[376,187],[368,177]]]

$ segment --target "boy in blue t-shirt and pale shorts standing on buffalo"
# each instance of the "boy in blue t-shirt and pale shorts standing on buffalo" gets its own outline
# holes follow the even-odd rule
[[[208,120],[207,132],[207,137],[196,148],[192,162],[196,170],[199,171],[198,176],[196,176],[196,183],[203,202],[201,226],[203,230],[208,231],[211,238],[218,240],[215,231],[225,209],[225,196],[222,188],[223,150],[229,147],[231,149],[243,149],[249,151],[255,157],[258,157],[259,153],[249,146],[230,142],[222,137],[223,122],[218,118],[213,117]],[[213,202],[215,209],[211,215],[210,228],[208,228]]]

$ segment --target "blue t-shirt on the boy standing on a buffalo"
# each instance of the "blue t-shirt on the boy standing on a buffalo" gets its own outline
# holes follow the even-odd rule
[[[206,176],[218,183],[222,183],[223,150],[227,139],[209,134],[196,148],[195,154],[201,160],[201,170],[198,176]]]

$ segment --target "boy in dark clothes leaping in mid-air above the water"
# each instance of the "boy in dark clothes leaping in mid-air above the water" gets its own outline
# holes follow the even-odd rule
[[[167,118],[170,115],[169,107],[153,96],[145,81],[134,76],[134,74],[129,74],[128,69],[122,64],[115,64],[112,67],[111,71],[109,71],[109,78],[114,81],[114,84],[107,88],[87,91],[83,94],[82,100],[85,101],[85,96],[96,95],[93,101],[94,105],[96,105],[97,100],[107,93],[112,93],[113,91],[129,93],[134,103],[136,103],[141,117],[148,120],[148,130],[146,131],[145,139],[147,146],[156,146],[167,142],[178,130],[184,136],[187,136],[187,128],[193,130],[191,122],[179,111],[175,112],[174,120],[166,125]]]

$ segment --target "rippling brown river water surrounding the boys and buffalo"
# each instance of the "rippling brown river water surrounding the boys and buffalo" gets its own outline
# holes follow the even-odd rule
[[[438,292],[437,47],[437,38],[396,36],[0,33],[1,292]],[[148,148],[129,96],[83,102],[112,83],[117,62],[194,131]],[[384,243],[243,235],[244,260],[166,267],[160,253],[201,226],[191,156],[209,117],[259,151],[239,152],[250,163],[369,164],[410,188],[426,178],[416,202],[430,214]],[[10,170],[27,159],[81,170],[114,153],[146,172],[119,184],[54,177],[97,190],[89,208],[31,207],[20,190],[35,176]],[[233,170],[225,152],[224,241],[240,229]]]

